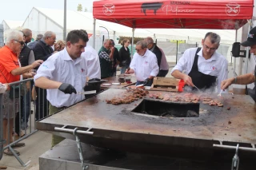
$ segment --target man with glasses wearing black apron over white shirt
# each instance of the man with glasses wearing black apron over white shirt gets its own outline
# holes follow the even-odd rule
[[[221,91],[221,82],[227,78],[228,65],[226,58],[216,52],[221,38],[209,32],[202,40],[202,48],[186,49],[177,65],[171,70],[175,78],[183,79],[187,91],[206,90]]]

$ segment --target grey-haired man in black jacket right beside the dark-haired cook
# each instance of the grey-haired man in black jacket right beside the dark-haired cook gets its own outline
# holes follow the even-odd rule
[[[56,41],[56,34],[54,34],[52,31],[46,31],[46,33],[43,35],[42,39],[38,41],[34,45],[34,57],[36,60],[40,59],[43,61],[46,61],[48,57],[50,57],[53,53],[57,53],[58,51],[54,51],[52,49],[52,45],[54,45],[54,42]],[[38,68],[37,68],[38,69]],[[36,99],[36,120],[42,119],[42,117],[46,117],[48,114],[48,101],[46,99],[46,90],[45,89],[38,89],[37,87],[36,93],[38,95]]]

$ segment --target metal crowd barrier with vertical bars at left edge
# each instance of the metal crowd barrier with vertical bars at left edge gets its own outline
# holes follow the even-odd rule
[[[0,160],[4,152],[7,152],[23,167],[26,167],[30,160],[24,163],[14,148],[21,144],[19,142],[38,132],[35,122],[48,116],[46,89],[35,88],[33,83],[33,78],[15,81],[9,84],[10,90],[0,94]],[[35,100],[32,99],[32,90],[37,93]],[[34,107],[31,102],[34,102]],[[31,110],[34,111],[34,117],[31,116]],[[4,144],[6,146],[3,147]]]

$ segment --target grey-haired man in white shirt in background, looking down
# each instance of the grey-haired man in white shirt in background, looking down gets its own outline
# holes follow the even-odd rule
[[[146,42],[143,40],[136,43],[136,51],[130,62],[130,69],[127,69],[126,73],[135,73],[136,85],[150,86],[159,72],[157,57],[147,49]]]

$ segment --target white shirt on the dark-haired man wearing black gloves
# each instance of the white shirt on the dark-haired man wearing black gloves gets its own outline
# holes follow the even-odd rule
[[[68,83],[73,85],[77,92],[82,92],[86,85],[86,61],[83,57],[73,60],[65,48],[51,55],[40,65],[37,74],[34,76],[34,81],[39,77]],[[74,105],[84,98],[84,95],[65,94],[59,89],[47,89],[47,100],[57,108]]]

